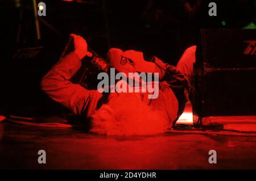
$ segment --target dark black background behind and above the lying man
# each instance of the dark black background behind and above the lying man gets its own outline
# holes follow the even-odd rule
[[[243,28],[255,23],[254,0],[213,1],[217,3],[216,17],[208,15],[212,1],[203,0],[43,2],[47,15],[39,22],[41,40],[36,40],[32,1],[0,3],[0,113],[34,116],[62,112],[40,91],[39,82],[59,60],[72,32],[85,37],[102,56],[110,47],[135,49],[176,65],[186,48],[199,43],[200,28]],[[13,60],[17,49],[38,46],[43,49],[33,60]]]

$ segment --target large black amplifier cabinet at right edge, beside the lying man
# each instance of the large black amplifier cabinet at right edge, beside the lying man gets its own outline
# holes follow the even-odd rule
[[[255,50],[256,30],[201,30],[194,85],[199,95],[192,96],[195,120],[256,115]]]

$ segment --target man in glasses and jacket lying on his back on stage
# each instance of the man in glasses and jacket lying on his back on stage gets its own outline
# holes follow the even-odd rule
[[[158,98],[148,99],[148,96],[145,96],[147,93],[143,92],[102,94],[98,90],[86,90],[70,82],[81,66],[81,59],[84,56],[92,56],[82,37],[74,34],[71,36],[74,38],[75,50],[61,58],[41,82],[42,90],[51,99],[77,115],[86,115],[85,121],[92,123],[92,133],[157,134],[164,133],[174,126],[188,100],[189,88],[185,85],[188,85],[191,79],[195,46],[184,52],[177,68],[164,64],[157,57],[154,57],[156,64],[145,61],[142,52],[109,49],[108,61],[119,73],[127,76],[134,72],[159,74]],[[123,58],[126,61],[123,61]]]

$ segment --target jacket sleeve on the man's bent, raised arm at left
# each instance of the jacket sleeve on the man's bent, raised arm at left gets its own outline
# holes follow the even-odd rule
[[[89,117],[102,94],[97,90],[86,90],[69,81],[80,67],[79,56],[71,52],[48,71],[40,86],[51,99],[78,115],[85,112]]]

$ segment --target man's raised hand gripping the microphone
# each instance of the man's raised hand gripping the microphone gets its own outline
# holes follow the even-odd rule
[[[85,56],[92,57],[92,53],[87,50],[87,43],[83,37],[77,36],[73,33],[70,36],[74,38],[75,52],[79,58],[82,59]]]

